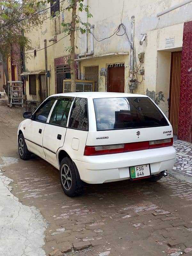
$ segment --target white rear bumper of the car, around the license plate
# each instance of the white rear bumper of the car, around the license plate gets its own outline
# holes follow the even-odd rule
[[[166,147],[103,156],[84,156],[83,161],[73,161],[81,180],[96,184],[129,179],[130,166],[150,164],[151,174],[171,170],[175,157],[175,149]]]

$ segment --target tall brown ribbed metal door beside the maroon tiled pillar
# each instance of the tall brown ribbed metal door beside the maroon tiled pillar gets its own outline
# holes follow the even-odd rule
[[[175,135],[177,135],[177,132],[178,132],[180,66],[181,66],[181,52],[172,52],[170,91],[169,91],[169,121],[172,124],[173,134]]]

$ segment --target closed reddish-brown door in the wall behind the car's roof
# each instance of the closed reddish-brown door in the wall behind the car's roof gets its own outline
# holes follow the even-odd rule
[[[108,92],[124,92],[124,86],[125,86],[124,74],[125,74],[124,64],[108,65],[108,69],[107,69],[107,91]]]

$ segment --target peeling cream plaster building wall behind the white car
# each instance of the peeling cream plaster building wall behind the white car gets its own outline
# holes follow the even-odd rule
[[[163,82],[160,81],[161,77],[165,75],[166,81],[164,79],[164,84],[168,86],[168,74],[167,70],[160,68],[161,63],[158,62],[157,51],[166,50],[165,49],[165,38],[175,37],[175,45],[172,49],[168,51],[181,50],[182,47],[182,35],[183,35],[183,23],[185,21],[191,20],[192,3],[186,4],[172,12],[168,12],[160,17],[157,17],[157,13],[178,3],[182,3],[183,0],[158,0],[154,2],[153,0],[145,0],[141,2],[139,0],[124,1],[124,12],[122,17],[123,0],[120,0],[117,4],[115,0],[88,0],[88,5],[91,8],[91,13],[93,17],[88,19],[88,22],[94,24],[94,35],[97,38],[105,38],[114,33],[114,30],[121,23],[125,25],[127,34],[130,38],[131,34],[131,16],[135,15],[135,33],[134,33],[134,45],[136,49],[136,60],[137,65],[139,64],[138,53],[145,52],[145,61],[141,65],[144,67],[145,75],[142,78],[138,75],[138,81],[140,83],[136,89],[136,93],[159,93],[163,92],[164,97],[168,95],[168,91],[164,91],[166,88],[161,89],[160,86]],[[64,7],[65,7],[64,3]],[[49,5],[48,5],[49,6]],[[50,10],[48,10],[47,15],[50,15]],[[85,20],[85,13],[80,15]],[[65,12],[65,21],[70,20],[71,13]],[[47,45],[49,39],[57,35],[57,40],[64,36],[64,28],[60,25],[62,22],[62,13],[58,18],[53,18],[52,20],[46,20],[41,29],[33,29],[29,34],[29,39],[31,39],[31,49],[42,49],[44,48],[44,39],[47,39]],[[120,31],[119,34],[122,34]],[[139,44],[141,39],[141,34],[147,33],[147,39],[142,45]],[[76,54],[83,53],[85,49],[85,35],[79,33],[79,37],[76,36]],[[64,55],[68,55],[65,52],[65,47],[69,46],[69,37],[62,39],[57,44],[47,48],[47,58],[48,58],[48,69],[51,70],[50,87],[51,94],[55,92],[55,79],[54,79],[54,58],[58,58]],[[88,36],[88,51],[90,51],[90,35]],[[94,56],[101,54],[107,54],[112,52],[129,52],[130,45],[124,36],[116,36],[106,39],[102,42],[97,42],[94,40]],[[109,58],[110,59],[110,58]],[[83,67],[89,65],[99,65],[100,70],[106,69],[107,63],[125,63],[125,92],[129,92],[129,66],[130,66],[130,55],[127,56],[116,56],[109,60],[108,58],[102,59],[92,59],[84,60],[81,62],[81,77],[83,77]],[[99,63],[99,64],[98,64]],[[41,70],[44,68],[44,50],[37,52],[37,57],[31,57],[26,63],[26,68],[28,70]],[[157,72],[162,69],[161,74],[157,75]],[[99,90],[106,90],[106,76],[99,74]],[[147,92],[148,90],[148,92]],[[158,96],[156,96],[158,98]],[[166,103],[165,103],[166,102]],[[164,112],[167,112],[167,99],[160,104],[164,108]]]

